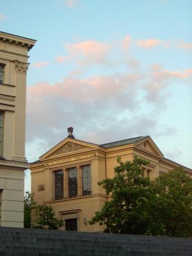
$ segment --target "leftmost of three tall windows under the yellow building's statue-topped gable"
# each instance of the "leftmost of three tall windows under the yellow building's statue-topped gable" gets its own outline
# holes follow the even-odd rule
[[[63,199],[63,171],[54,172],[54,198],[55,200]]]

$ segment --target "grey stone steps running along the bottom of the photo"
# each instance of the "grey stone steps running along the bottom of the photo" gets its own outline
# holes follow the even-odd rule
[[[3,256],[191,256],[192,238],[0,227]]]

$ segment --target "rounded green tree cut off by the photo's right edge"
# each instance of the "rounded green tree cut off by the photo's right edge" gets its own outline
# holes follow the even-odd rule
[[[157,177],[152,184],[153,199],[148,233],[166,236],[192,236],[192,179],[175,168]]]

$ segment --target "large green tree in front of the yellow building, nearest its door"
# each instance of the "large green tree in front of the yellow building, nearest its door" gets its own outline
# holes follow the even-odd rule
[[[106,225],[105,232],[145,234],[149,216],[150,180],[144,177],[143,167],[148,161],[134,157],[123,163],[118,157],[115,177],[99,182],[107,195],[111,195],[101,211],[95,212],[90,224]]]

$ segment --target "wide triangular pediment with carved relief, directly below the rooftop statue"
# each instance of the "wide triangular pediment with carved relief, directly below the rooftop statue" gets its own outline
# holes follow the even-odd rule
[[[51,150],[47,151],[43,156],[40,157],[40,159],[53,158],[62,155],[65,156],[70,153],[92,150],[93,148],[97,147],[98,145],[92,143],[66,138],[58,145],[51,148]]]

